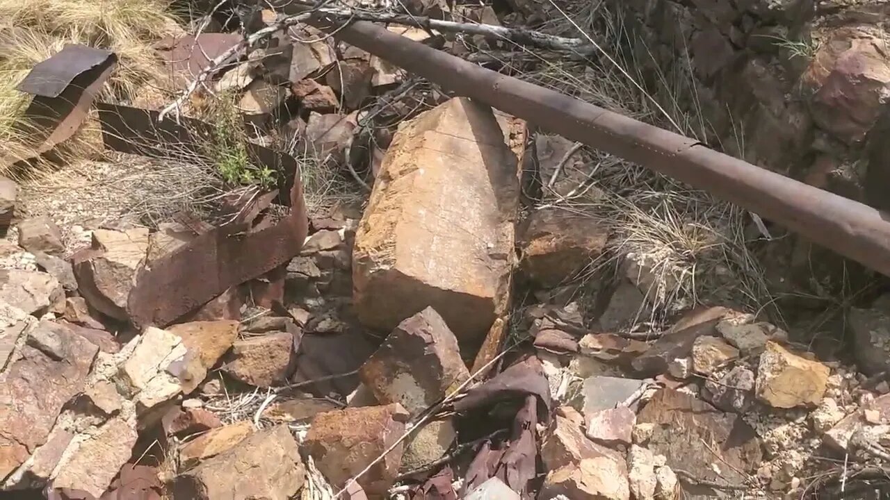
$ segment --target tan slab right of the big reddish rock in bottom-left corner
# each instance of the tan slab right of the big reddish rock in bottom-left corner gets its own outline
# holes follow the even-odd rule
[[[112,418],[65,454],[50,484],[52,488],[78,489],[98,498],[133,455],[135,444],[135,419]]]

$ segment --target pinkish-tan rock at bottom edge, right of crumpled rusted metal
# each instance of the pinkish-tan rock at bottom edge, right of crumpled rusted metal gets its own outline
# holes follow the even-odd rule
[[[565,408],[569,415],[577,412]],[[541,459],[547,474],[542,493],[546,498],[628,500],[627,464],[618,452],[588,440],[578,425],[580,415],[556,415],[544,437]]]

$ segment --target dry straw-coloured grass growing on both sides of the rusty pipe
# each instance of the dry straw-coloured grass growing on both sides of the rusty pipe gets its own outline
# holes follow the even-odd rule
[[[681,69],[676,74],[660,73],[658,89],[650,91],[641,70],[653,65],[633,60],[627,51],[633,35],[624,30],[621,12],[602,1],[568,6],[551,1],[549,6],[555,14],[547,31],[587,38],[601,52],[583,62],[540,57],[538,69],[522,78],[704,141],[707,121],[694,102],[686,107],[676,97],[690,84],[683,64],[676,65]],[[552,205],[590,214],[609,227],[609,251],[583,278],[606,269],[623,274],[616,265],[628,255],[643,256],[655,276],[647,298],[656,325],[667,313],[700,303],[763,310],[773,302],[748,249],[747,211],[604,151],[586,148],[580,154],[586,172],[571,176],[584,179],[578,195]]]

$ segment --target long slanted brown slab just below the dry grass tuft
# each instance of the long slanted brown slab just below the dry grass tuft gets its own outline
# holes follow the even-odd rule
[[[691,356],[695,339],[701,335],[715,335],[717,323],[729,314],[732,314],[732,310],[724,307],[699,308],[688,312],[653,343],[649,351],[634,359],[632,366],[643,375],[667,372],[671,360]]]

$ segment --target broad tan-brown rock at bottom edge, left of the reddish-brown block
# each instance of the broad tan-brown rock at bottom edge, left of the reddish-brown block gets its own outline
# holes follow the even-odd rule
[[[306,470],[294,436],[281,424],[257,431],[173,481],[173,500],[287,500],[303,487]]]

